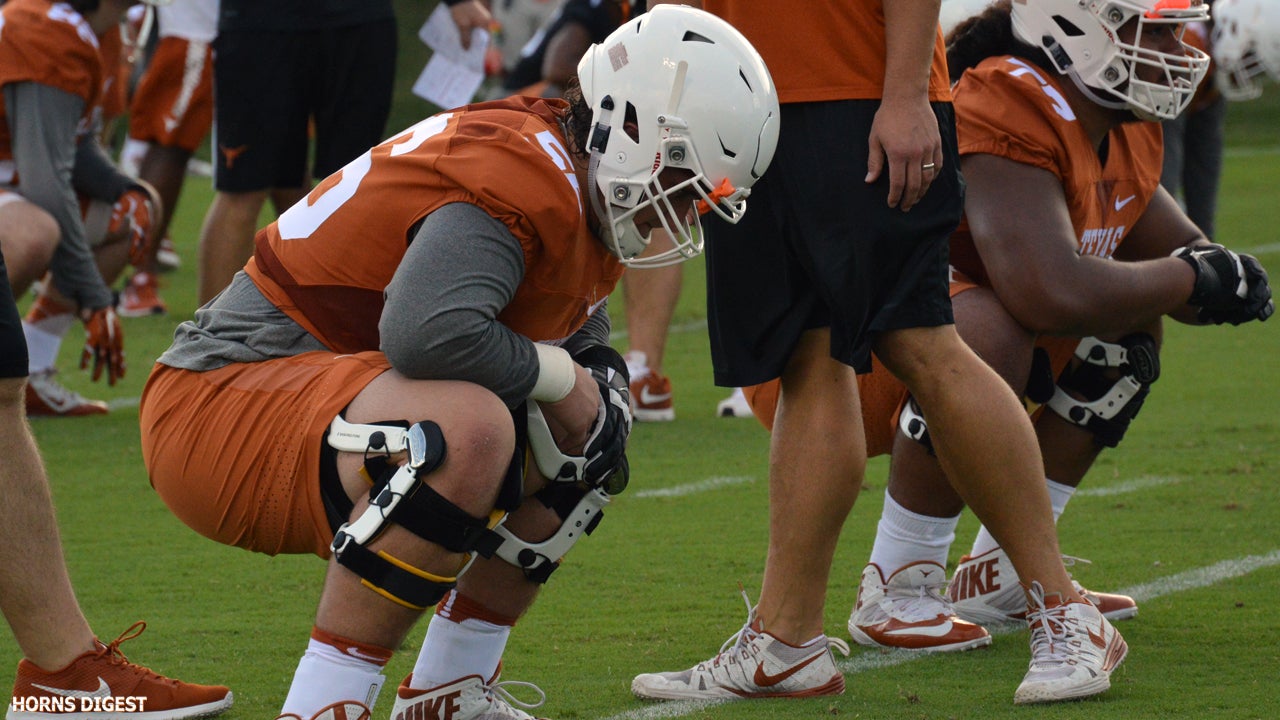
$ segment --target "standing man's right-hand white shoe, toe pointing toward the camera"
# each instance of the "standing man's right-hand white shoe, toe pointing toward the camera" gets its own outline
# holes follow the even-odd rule
[[[1046,600],[1032,583],[1027,625],[1032,632],[1032,661],[1014,693],[1015,705],[1059,702],[1096,696],[1111,687],[1111,671],[1124,661],[1129,646],[1089,602]]]

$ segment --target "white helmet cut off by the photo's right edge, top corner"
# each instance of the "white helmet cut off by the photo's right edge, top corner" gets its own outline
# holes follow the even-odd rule
[[[1280,81],[1280,6],[1274,0],[1219,0],[1213,63],[1219,90],[1228,100],[1262,95],[1263,73]]]

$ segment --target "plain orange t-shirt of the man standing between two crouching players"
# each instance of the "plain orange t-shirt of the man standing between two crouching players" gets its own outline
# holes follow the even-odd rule
[[[891,1],[891,0],[890,0]],[[746,36],[769,68],[780,102],[878,100],[884,95],[883,0],[705,0],[703,6]],[[951,99],[942,28],[933,44],[929,100]]]

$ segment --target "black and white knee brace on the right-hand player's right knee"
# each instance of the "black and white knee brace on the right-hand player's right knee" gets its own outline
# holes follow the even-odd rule
[[[1119,343],[1087,337],[1075,347],[1075,356],[1080,365],[1062,372],[1048,407],[1087,428],[1098,443],[1115,447],[1142,409],[1151,383],[1160,378],[1156,340],[1147,333],[1125,336]],[[1120,377],[1108,377],[1112,369]]]

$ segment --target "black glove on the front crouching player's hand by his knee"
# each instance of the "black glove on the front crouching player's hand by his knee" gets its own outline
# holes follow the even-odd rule
[[[618,351],[605,345],[580,351],[573,361],[590,370],[600,388],[600,413],[582,450],[586,457],[582,480],[617,495],[627,487],[631,474],[626,456],[631,434],[631,375]]]

